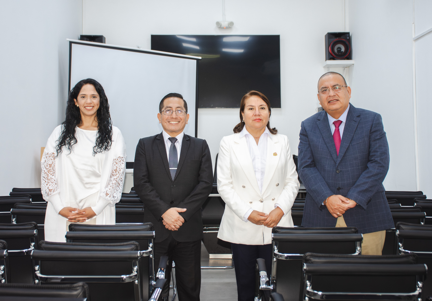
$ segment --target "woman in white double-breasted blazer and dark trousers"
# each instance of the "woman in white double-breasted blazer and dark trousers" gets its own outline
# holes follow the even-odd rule
[[[299,181],[285,135],[270,127],[270,101],[257,91],[241,99],[240,123],[220,142],[217,187],[225,212],[218,238],[231,242],[239,301],[254,300],[255,262],[271,270],[272,228],[293,227]]]

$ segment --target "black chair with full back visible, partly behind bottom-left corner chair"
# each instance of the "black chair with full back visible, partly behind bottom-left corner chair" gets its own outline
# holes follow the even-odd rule
[[[142,300],[141,252],[137,242],[41,241],[39,247],[40,250],[32,251],[35,284],[86,282],[92,301]]]

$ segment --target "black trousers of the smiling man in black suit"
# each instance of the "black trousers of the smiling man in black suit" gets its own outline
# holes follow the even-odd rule
[[[199,301],[201,289],[201,240],[176,241],[171,234],[162,242],[154,244],[155,269],[159,266],[161,256],[168,256],[168,267],[165,271],[165,286],[162,297],[169,295],[172,261],[175,263],[175,281],[179,301]]]

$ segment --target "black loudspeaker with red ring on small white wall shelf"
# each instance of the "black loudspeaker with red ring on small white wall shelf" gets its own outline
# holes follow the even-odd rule
[[[352,57],[349,32],[327,32],[325,35],[325,59],[351,60]]]

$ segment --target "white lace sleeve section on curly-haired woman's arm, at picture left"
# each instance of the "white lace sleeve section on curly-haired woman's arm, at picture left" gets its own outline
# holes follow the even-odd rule
[[[57,179],[55,177],[55,153],[44,151],[41,160],[41,190],[44,200],[58,193]]]

